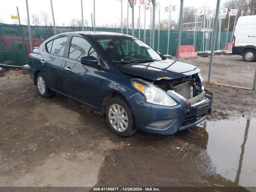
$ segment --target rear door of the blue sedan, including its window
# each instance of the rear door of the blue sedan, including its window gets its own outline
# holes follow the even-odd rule
[[[51,89],[63,92],[62,64],[68,36],[61,36],[46,43],[41,63],[44,76]]]

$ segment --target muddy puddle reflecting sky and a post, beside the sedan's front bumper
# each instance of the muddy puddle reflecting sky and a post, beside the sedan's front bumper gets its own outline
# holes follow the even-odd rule
[[[178,134],[207,150],[217,174],[240,186],[256,186],[256,118],[205,121]]]

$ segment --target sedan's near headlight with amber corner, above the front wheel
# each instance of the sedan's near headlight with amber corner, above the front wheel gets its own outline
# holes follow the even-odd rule
[[[132,85],[145,96],[146,102],[148,103],[163,106],[177,105],[166,92],[149,82],[141,79],[132,79]]]

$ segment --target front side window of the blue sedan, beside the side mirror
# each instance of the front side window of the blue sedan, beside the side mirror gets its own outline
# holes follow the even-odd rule
[[[97,54],[94,48],[92,48],[92,46],[87,40],[81,37],[73,36],[70,44],[68,57],[80,61],[81,57],[89,55],[97,58]]]

